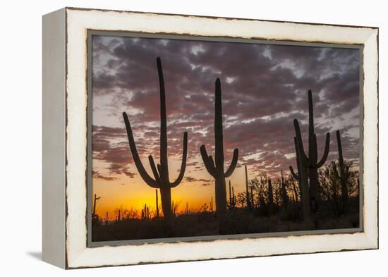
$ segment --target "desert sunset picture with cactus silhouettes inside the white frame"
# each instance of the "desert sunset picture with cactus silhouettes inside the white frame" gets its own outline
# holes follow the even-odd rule
[[[92,242],[360,228],[360,48],[90,39]]]

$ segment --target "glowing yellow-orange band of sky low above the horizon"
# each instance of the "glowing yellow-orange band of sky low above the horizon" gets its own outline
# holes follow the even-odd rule
[[[175,180],[178,176],[178,168],[180,166],[181,160],[179,157],[173,159],[174,157],[169,157],[169,172],[170,180]],[[198,156],[198,159],[201,159]],[[148,173],[151,173],[150,166],[147,159],[142,159],[143,165],[145,166]],[[225,161],[225,167],[229,166],[230,161]],[[95,162],[98,166],[98,162]],[[200,161],[202,165],[202,161]],[[116,180],[103,180],[100,178],[93,178],[93,195],[97,194],[97,197],[101,197],[97,200],[96,204],[96,214],[100,217],[105,218],[106,212],[108,211],[109,220],[115,218],[114,209],[122,207],[123,209],[137,209],[140,213],[144,205],[147,204],[152,210],[156,207],[155,202],[155,189],[150,187],[145,183],[145,181],[138,174],[137,169],[133,164],[128,165],[135,172],[134,178],[129,178],[128,176],[121,175],[115,176]],[[192,166],[186,167],[186,173],[193,171]],[[151,174],[150,174],[151,175]],[[190,175],[193,175],[191,173]],[[248,178],[253,178],[257,176],[258,173],[250,172],[248,167]],[[152,176],[152,175],[151,175]],[[187,174],[185,174],[187,176]],[[200,170],[197,170],[194,174],[197,179],[210,180],[210,182],[204,182],[203,180],[193,180],[188,181],[186,178],[183,178],[182,182],[177,186],[171,189],[171,201],[178,203],[178,212],[182,212],[186,209],[186,202],[188,203],[189,209],[199,209],[203,204],[207,203],[207,206],[210,206],[211,197],[214,200],[214,179],[210,176],[209,173],[205,170],[205,166]],[[245,169],[243,166],[236,167],[234,173],[230,178],[226,178],[226,189],[227,196],[229,197],[229,180],[231,180],[231,185],[234,186],[235,195],[238,192],[245,191]],[[203,185],[208,183],[209,185]],[[159,205],[160,202],[160,192],[159,192]],[[215,206],[215,203],[213,203]]]

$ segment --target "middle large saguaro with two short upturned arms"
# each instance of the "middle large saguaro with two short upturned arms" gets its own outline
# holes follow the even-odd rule
[[[215,180],[216,212],[219,225],[219,233],[225,233],[226,228],[226,183],[228,178],[236,168],[238,159],[238,149],[234,149],[231,165],[227,171],[224,171],[224,138],[222,135],[222,100],[221,100],[221,81],[219,78],[215,84],[215,115],[214,115],[214,144],[215,144],[215,162],[212,156],[207,155],[205,145],[200,147],[205,168]]]

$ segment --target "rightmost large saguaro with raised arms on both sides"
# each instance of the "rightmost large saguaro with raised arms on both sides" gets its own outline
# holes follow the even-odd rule
[[[325,150],[322,158],[318,161],[317,154],[317,136],[314,133],[314,114],[313,114],[313,96],[311,90],[308,91],[308,154],[305,154],[303,141],[301,137],[301,129],[297,119],[294,119],[293,125],[296,133],[296,140],[299,151],[299,159],[301,164],[308,168],[308,178],[310,180],[310,206],[313,212],[317,211],[320,194],[318,181],[318,168],[323,166],[329,154],[330,134],[326,134]]]

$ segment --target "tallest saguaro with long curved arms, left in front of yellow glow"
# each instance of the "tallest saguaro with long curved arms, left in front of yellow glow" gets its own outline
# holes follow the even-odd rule
[[[135,162],[136,168],[140,176],[143,178],[145,183],[153,188],[159,188],[160,198],[162,201],[162,211],[164,221],[166,223],[167,235],[173,235],[174,233],[174,215],[171,209],[171,188],[179,185],[183,179],[183,175],[186,170],[186,158],[187,158],[187,132],[183,134],[183,152],[182,152],[182,163],[181,171],[179,172],[178,178],[174,182],[169,180],[169,166],[167,162],[167,118],[166,118],[166,94],[164,91],[164,78],[162,70],[162,61],[157,58],[157,72],[159,75],[159,89],[160,89],[160,164],[155,166],[154,159],[150,155],[148,159],[154,178],[148,175],[147,171],[140,160],[138,150],[136,149],[135,140],[133,139],[133,133],[131,123],[128,120],[127,114],[123,113],[124,122],[126,123],[126,130],[128,135],[129,147]]]

